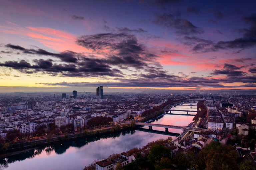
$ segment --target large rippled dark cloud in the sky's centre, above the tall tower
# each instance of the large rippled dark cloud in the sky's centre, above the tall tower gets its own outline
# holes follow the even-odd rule
[[[119,60],[145,61],[159,65],[155,59],[158,57],[146,49],[143,44],[138,43],[135,35],[127,33],[107,33],[80,36],[77,44],[95,52],[102,52],[102,49],[108,50],[109,53],[115,53]],[[113,56],[109,56],[111,59]],[[154,62],[153,62],[154,61]],[[114,61],[113,61],[114,62]],[[129,63],[129,62],[128,62]]]

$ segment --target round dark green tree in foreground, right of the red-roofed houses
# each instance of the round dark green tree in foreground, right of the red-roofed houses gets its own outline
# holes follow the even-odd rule
[[[150,148],[150,152],[148,155],[148,159],[152,162],[158,161],[158,166],[160,166],[160,161],[162,157],[168,157],[167,155],[170,153],[169,149],[164,147],[162,144],[153,145]]]

